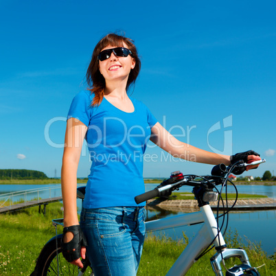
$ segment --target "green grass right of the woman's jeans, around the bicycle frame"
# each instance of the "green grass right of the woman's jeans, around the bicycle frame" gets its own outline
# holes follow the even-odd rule
[[[242,246],[249,255],[252,266],[261,266],[262,264],[266,264],[265,266],[262,266],[262,268],[259,268],[259,272],[262,276],[276,275],[275,255],[268,257],[266,253],[260,249],[259,244],[252,244],[251,242],[249,242],[249,245],[242,244],[241,238],[236,232],[229,232],[226,240],[230,242],[229,247],[237,248]],[[185,235],[183,235],[183,240],[180,241],[174,241],[165,237],[157,238],[154,235],[149,235],[143,246],[143,254],[137,275],[166,275],[185,246],[187,246],[187,237]],[[186,275],[214,275],[209,260],[214,253],[215,251],[212,249],[209,253],[201,257],[196,263],[193,264]],[[231,268],[234,264],[240,264],[240,261],[229,259],[226,264],[227,268]],[[225,268],[222,268],[222,270],[225,273]]]

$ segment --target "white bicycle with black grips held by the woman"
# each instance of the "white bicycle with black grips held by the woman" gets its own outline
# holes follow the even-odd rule
[[[214,245],[211,248],[215,247],[216,253],[211,257],[210,262],[213,271],[217,276],[223,275],[220,263],[222,262],[222,264],[225,266],[225,260],[229,259],[230,257],[238,257],[241,261],[241,264],[235,265],[231,268],[226,268],[225,266],[227,271],[226,276],[260,275],[260,273],[257,271],[257,268],[251,266],[249,257],[247,256],[244,249],[227,248],[220,229],[222,229],[226,221],[226,231],[228,226],[229,211],[231,211],[238,199],[238,190],[235,188],[235,203],[233,203],[231,207],[228,206],[228,176],[231,174],[231,172],[233,172],[233,170],[244,168],[248,165],[257,165],[264,163],[265,161],[265,159],[260,161],[253,161],[251,163],[244,163],[243,161],[239,161],[233,165],[230,165],[229,167],[226,167],[225,164],[219,164],[214,166],[211,171],[211,175],[206,176],[197,176],[194,174],[183,175],[181,172],[173,172],[169,179],[163,181],[160,185],[151,191],[135,197],[135,201],[138,204],[155,197],[168,197],[172,191],[178,190],[183,185],[189,185],[193,187],[192,192],[198,201],[198,207],[200,208],[200,211],[146,222],[146,232],[181,227],[185,225],[192,226],[199,223],[203,224],[196,235],[194,235],[194,238],[191,240],[191,242],[187,244],[176,262],[174,262],[170,268],[170,271],[168,271],[166,274],[167,276],[185,275],[192,264],[210,250],[210,246],[212,244]],[[229,182],[235,187],[231,181]],[[222,185],[220,191],[217,189],[217,185]],[[224,187],[226,189],[225,202],[221,197],[222,189],[224,189]],[[79,187],[77,189],[78,198],[82,198],[83,200],[84,194],[85,187]],[[209,202],[216,200],[218,200],[218,206],[215,217]],[[220,202],[224,208],[222,215],[218,214],[218,207]],[[222,218],[220,227],[219,218]],[[76,273],[78,273],[78,275],[84,275],[84,273],[87,271],[87,268],[90,266],[88,258],[84,260],[84,267],[80,269],[73,264],[69,264],[62,256],[60,249],[62,234],[57,234],[57,226],[62,225],[62,222],[63,219],[52,220],[54,227],[56,227],[56,236],[51,238],[43,247],[36,261],[36,268],[31,276],[76,275]],[[93,271],[91,271],[90,275],[93,275]]]

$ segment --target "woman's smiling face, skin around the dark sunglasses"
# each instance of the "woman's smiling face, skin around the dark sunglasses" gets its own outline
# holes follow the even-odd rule
[[[106,49],[112,49],[116,46],[108,45],[102,51]],[[123,43],[123,47],[127,48],[127,45]],[[111,56],[106,60],[99,60],[99,70],[104,79],[107,82],[117,81],[117,80],[128,80],[128,75],[130,70],[135,67],[135,59],[130,55],[123,56],[115,56],[112,52]]]

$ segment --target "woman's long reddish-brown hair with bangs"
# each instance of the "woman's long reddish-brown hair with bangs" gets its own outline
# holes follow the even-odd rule
[[[136,62],[134,69],[130,70],[128,82],[126,84],[126,91],[128,91],[130,84],[135,84],[135,80],[137,79],[137,76],[141,68],[141,61],[138,57],[134,41],[130,38],[126,38],[126,36],[124,35],[113,33],[107,34],[95,46],[91,62],[87,69],[87,84],[89,85],[88,89],[91,91],[91,93],[95,94],[91,106],[97,106],[102,102],[102,99],[104,97],[104,88],[106,86],[104,77],[102,76],[99,70],[97,56],[100,54],[100,51],[104,49],[104,47],[107,47],[108,45],[122,47],[123,43],[125,43],[128,46],[128,49],[130,49],[130,51],[132,52],[132,57],[135,59]]]

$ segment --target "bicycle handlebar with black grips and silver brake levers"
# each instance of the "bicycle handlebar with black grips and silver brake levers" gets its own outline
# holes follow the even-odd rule
[[[215,177],[214,177],[213,180],[209,179],[209,182],[214,182],[214,183],[218,182],[219,179],[223,179],[223,177],[227,173],[231,172],[231,170],[233,168],[235,168],[236,166],[238,166],[238,167],[246,167],[248,165],[259,165],[260,163],[266,162],[266,159],[252,161],[251,163],[249,163],[249,162],[250,161],[248,161],[248,163],[244,163],[244,161],[239,161],[239,162],[237,162],[237,163],[235,163],[233,165],[229,165],[228,167],[226,167],[226,165],[223,164],[223,163],[215,165],[214,168],[211,170],[211,175],[215,176]],[[219,177],[216,177],[216,176],[219,176]],[[151,198],[155,198],[157,196],[161,196],[162,192],[170,190],[170,189],[171,190],[178,189],[179,187],[181,187],[185,183],[191,183],[192,186],[196,186],[196,185],[198,185],[198,182],[193,181],[195,179],[195,177],[196,176],[194,176],[194,175],[183,176],[181,174],[180,177],[179,176],[174,177],[172,175],[170,179],[167,179],[167,180],[163,181],[158,187],[155,187],[154,189],[152,189],[152,190],[150,190],[150,191],[148,191],[146,193],[139,194],[139,196],[135,196],[135,202],[137,204],[139,204],[139,203],[142,203],[143,201],[149,200]],[[201,176],[201,177],[203,179],[210,178],[210,176]],[[193,183],[192,183],[192,181],[193,181]],[[218,184],[222,184],[222,181],[220,181]]]

